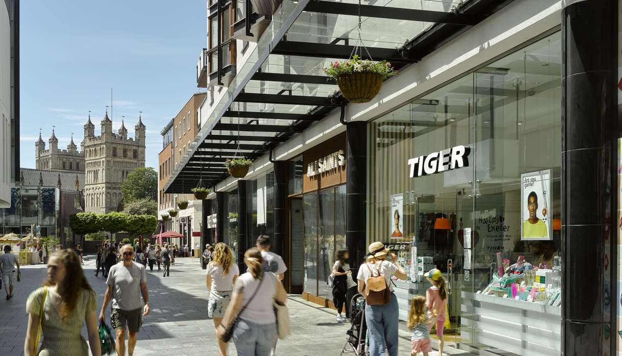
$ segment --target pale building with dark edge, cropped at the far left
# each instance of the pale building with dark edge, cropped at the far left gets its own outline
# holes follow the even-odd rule
[[[0,4],[0,208],[19,181],[19,0]]]

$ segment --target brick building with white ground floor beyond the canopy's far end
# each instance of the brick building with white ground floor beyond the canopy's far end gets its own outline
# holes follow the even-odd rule
[[[192,194],[164,194],[163,188],[170,174],[188,149],[190,149],[190,145],[197,136],[198,129],[200,128],[197,111],[205,99],[205,95],[205,92],[192,95],[177,116],[172,118],[164,129],[160,131],[162,135],[162,151],[158,155],[158,208],[160,223],[164,224],[163,229],[165,231],[174,230],[184,235],[185,237],[180,240],[180,244],[188,245],[190,248],[196,245],[193,240],[197,240],[198,243],[198,237],[193,239],[192,234],[193,232],[200,232],[198,222],[200,222],[201,202],[194,200],[194,195]],[[180,210],[177,207],[177,202],[182,200],[188,201],[188,207]],[[172,209],[179,210],[177,216],[170,218],[168,221],[162,220],[162,215],[167,215],[169,210]]]

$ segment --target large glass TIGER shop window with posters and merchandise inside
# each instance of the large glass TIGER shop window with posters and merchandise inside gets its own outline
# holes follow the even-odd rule
[[[455,343],[560,354],[561,54],[552,34],[369,124],[369,235],[407,271],[395,282],[400,319],[436,267],[452,286]],[[435,155],[458,146],[468,166],[439,169]]]

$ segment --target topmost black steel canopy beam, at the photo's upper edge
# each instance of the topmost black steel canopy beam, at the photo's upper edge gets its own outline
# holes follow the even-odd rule
[[[439,22],[442,24],[473,26],[481,21],[481,16],[457,14],[453,12],[404,9],[402,7],[361,5],[361,16],[379,19]],[[358,16],[358,4],[333,1],[311,1],[306,11],[324,12],[326,14]]]

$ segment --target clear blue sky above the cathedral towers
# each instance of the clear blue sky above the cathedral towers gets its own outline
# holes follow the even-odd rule
[[[21,1],[21,166],[56,126],[58,147],[80,146],[88,111],[99,134],[113,88],[113,128],[147,126],[146,166],[157,169],[160,130],[199,91],[205,0]]]

